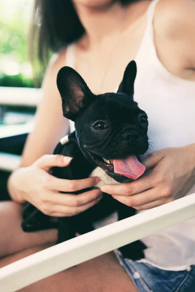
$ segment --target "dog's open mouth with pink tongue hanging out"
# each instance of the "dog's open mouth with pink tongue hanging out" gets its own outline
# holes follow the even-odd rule
[[[136,180],[145,171],[145,166],[138,160],[136,154],[131,153],[124,159],[106,159],[93,152],[88,152],[92,160],[110,175],[121,175]]]

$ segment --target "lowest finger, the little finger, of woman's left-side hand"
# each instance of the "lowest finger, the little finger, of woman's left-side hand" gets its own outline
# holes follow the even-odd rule
[[[64,217],[71,217],[71,216],[75,216],[89,208],[91,208],[92,206],[94,206],[98,201],[101,200],[101,197],[91,201],[85,205],[79,206],[79,207],[69,207],[69,206],[63,206],[63,205],[54,205],[53,206],[53,211],[50,213],[51,216],[53,216],[53,214],[56,213],[63,213]]]

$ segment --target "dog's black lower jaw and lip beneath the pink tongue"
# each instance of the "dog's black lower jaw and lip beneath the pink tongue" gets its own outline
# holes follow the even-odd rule
[[[87,154],[90,157],[90,160],[92,160],[94,164],[102,168],[107,173],[107,175],[112,177],[118,183],[130,183],[133,181],[132,179],[125,177],[124,175],[115,173],[112,160],[107,160],[89,151],[87,152]]]

